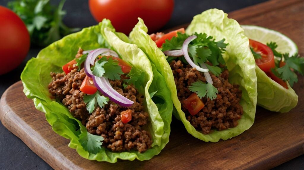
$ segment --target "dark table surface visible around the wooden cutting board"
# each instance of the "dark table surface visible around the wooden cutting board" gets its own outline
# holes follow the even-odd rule
[[[219,8],[225,12],[255,5],[266,0],[175,0],[170,21],[162,29],[189,23],[194,15],[209,8]],[[6,6],[9,0],[0,0]],[[57,5],[59,0],[51,0]],[[67,0],[64,5],[67,15],[64,23],[69,27],[85,28],[97,22],[91,16],[85,0]],[[0,23],[1,26],[1,23]],[[26,59],[15,70],[0,76],[0,96],[13,83],[20,80],[20,74],[31,57],[36,57],[41,48],[31,48]],[[0,169],[52,169],[46,162],[29,149],[17,136],[9,132],[0,122]],[[292,159],[274,169],[304,169],[304,155]]]

